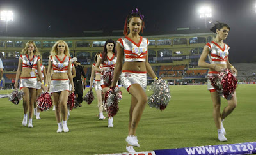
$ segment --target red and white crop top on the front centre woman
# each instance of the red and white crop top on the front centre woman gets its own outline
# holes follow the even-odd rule
[[[125,36],[124,38],[119,38],[117,43],[124,48],[125,62],[146,61],[147,47],[149,44],[147,38],[141,36],[139,43],[135,43],[131,38]]]

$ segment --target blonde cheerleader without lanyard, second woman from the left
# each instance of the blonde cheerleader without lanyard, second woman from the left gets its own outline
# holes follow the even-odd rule
[[[67,43],[63,40],[57,41],[53,45],[51,55],[49,56],[46,84],[47,86],[50,84],[51,78],[50,92],[52,93],[53,101],[56,105],[55,115],[58,124],[58,133],[69,131],[67,126],[67,100],[70,93],[69,82],[72,85],[71,90],[74,92],[70,59],[71,57]],[[53,70],[52,76],[51,70]],[[47,87],[47,89],[49,88]]]

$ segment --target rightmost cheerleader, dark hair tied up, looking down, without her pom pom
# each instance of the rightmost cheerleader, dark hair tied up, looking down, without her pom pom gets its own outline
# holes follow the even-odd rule
[[[225,23],[217,22],[214,24],[214,26],[211,28],[211,31],[213,33],[216,33],[216,38],[214,41],[211,41],[210,43],[207,43],[204,47],[204,50],[200,56],[200,59],[198,61],[198,66],[209,68],[209,72],[214,75],[218,75],[218,73],[224,69],[228,68],[232,73],[237,75],[237,70],[232,66],[232,64],[228,61],[228,55],[229,55],[229,49],[227,44],[223,43],[223,40],[225,40],[228,36],[228,32],[230,30],[230,27]],[[209,59],[210,63],[205,62],[205,60]],[[228,100],[228,106],[224,108],[222,114],[220,112],[220,94],[219,92],[212,87],[211,81],[208,79],[208,89],[211,92],[211,98],[213,103],[213,118],[216,125],[216,128],[218,129],[218,139],[220,141],[227,141],[227,138],[225,137],[226,131],[223,127],[223,120],[234,110],[234,108],[237,105],[237,99],[236,99],[236,92],[234,92],[234,95],[231,100]],[[222,120],[222,121],[221,121]]]

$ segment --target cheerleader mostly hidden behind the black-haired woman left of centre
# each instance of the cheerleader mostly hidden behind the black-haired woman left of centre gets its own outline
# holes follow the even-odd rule
[[[95,62],[97,62],[98,57],[100,55],[100,52],[97,52],[95,55]],[[102,69],[102,64],[99,66],[100,69]],[[102,88],[100,85],[100,78],[102,74],[98,71],[95,71],[95,64],[92,64],[92,71],[91,71],[91,78],[90,78],[90,91],[92,91],[92,85],[93,85],[93,78],[95,76],[95,92],[97,94],[98,98],[98,108],[99,108],[99,119],[106,119],[103,115],[103,106],[102,106]]]

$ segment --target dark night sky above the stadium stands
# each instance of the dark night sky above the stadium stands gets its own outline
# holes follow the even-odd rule
[[[0,36],[84,36],[83,30],[121,30],[134,8],[145,15],[145,32],[179,27],[204,29],[200,6],[212,8],[212,22],[226,22],[230,63],[256,62],[256,0],[96,1],[0,0],[0,10],[12,10],[14,21],[0,21]],[[212,24],[207,24],[210,28]]]

